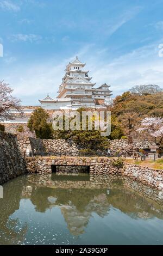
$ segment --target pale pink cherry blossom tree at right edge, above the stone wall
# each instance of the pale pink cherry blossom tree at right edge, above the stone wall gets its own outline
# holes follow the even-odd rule
[[[163,118],[147,117],[141,121],[141,127],[137,129],[147,139],[152,139],[159,146],[163,142]]]

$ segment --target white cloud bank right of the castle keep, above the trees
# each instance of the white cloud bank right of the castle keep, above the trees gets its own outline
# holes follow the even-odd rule
[[[141,47],[108,63],[91,59],[92,76],[97,84],[110,84],[114,96],[135,84],[158,84],[163,88],[163,58],[158,56],[157,46]]]

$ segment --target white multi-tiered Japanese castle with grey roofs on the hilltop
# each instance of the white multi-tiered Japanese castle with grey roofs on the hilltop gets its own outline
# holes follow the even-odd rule
[[[79,107],[103,108],[112,105],[110,86],[104,83],[95,88],[88,75],[89,70],[84,70],[85,63],[78,57],[70,62],[65,69],[65,76],[59,86],[58,96],[53,99],[47,95],[39,100],[44,109],[77,109]]]

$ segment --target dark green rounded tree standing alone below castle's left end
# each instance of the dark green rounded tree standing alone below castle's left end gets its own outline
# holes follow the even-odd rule
[[[28,121],[30,131],[35,131],[36,137],[40,139],[52,138],[52,124],[48,122],[49,115],[43,108],[37,108]]]

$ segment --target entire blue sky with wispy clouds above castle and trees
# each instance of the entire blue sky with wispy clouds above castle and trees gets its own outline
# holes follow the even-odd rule
[[[113,96],[136,84],[163,88],[163,0],[0,0],[0,80],[23,105],[57,96],[76,55]]]

